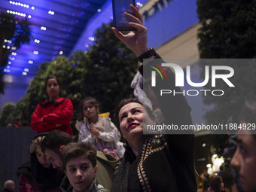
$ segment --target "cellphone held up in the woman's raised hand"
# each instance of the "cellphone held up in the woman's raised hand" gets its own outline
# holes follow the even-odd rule
[[[133,14],[130,5],[135,6],[135,0],[112,0],[114,27],[120,31],[134,31],[134,27],[126,25],[126,22],[132,22],[132,20],[124,16],[124,12]]]

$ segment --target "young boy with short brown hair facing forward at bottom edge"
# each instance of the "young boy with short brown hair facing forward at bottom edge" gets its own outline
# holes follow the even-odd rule
[[[73,189],[67,192],[107,192],[97,183],[96,148],[90,143],[72,142],[63,151],[65,173]]]

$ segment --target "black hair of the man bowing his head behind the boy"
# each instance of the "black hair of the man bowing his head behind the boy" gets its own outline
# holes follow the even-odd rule
[[[60,130],[52,130],[45,136],[44,141],[41,143],[41,151],[44,153],[46,149],[49,149],[61,157],[59,148],[62,145],[68,145],[70,142],[74,142],[74,139],[68,133]]]

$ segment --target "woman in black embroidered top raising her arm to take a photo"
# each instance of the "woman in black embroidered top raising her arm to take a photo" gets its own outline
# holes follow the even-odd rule
[[[143,59],[160,59],[160,56],[149,48],[147,44],[147,28],[142,24],[142,16],[139,8],[130,5],[134,16],[125,13],[125,17],[133,22],[127,26],[136,28],[126,35],[112,28],[114,34],[133,53]],[[146,63],[144,63],[146,64]],[[139,68],[142,78],[142,66]],[[157,101],[157,105],[164,117],[165,124],[190,124],[190,106],[183,95],[160,97],[161,88],[175,87],[173,81],[175,75],[166,69],[168,81],[158,87],[150,87],[151,96]],[[144,77],[147,79],[148,77]],[[157,77],[159,78],[159,77]],[[145,87],[147,85],[144,84]],[[139,97],[139,95],[137,96]],[[145,101],[145,97],[144,101]],[[152,99],[153,100],[153,99]],[[123,158],[117,163],[116,172],[111,191],[197,191],[196,172],[194,170],[194,135],[193,134],[143,134],[143,126],[154,124],[157,120],[151,106],[138,99],[123,99],[116,107],[116,118],[123,138],[126,141],[126,151]],[[166,109],[167,105],[167,109]]]

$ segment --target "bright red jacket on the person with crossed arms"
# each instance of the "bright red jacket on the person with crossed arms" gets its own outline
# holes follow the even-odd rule
[[[71,100],[61,97],[53,102],[47,101],[38,105],[31,115],[31,127],[38,134],[51,130],[61,130],[73,136],[70,126],[72,116],[73,105]]]

